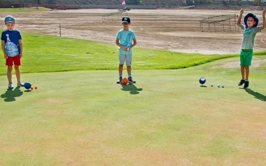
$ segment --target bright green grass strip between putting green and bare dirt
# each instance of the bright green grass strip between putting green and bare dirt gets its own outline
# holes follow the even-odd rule
[[[21,59],[22,73],[57,72],[74,70],[117,70],[118,48],[83,39],[22,33],[24,57]],[[3,57],[3,52],[1,52]],[[266,54],[266,51],[255,52]],[[238,54],[180,53],[165,50],[133,50],[133,69],[180,69],[207,62],[237,57]],[[5,59],[1,58],[5,64]],[[6,66],[0,66],[0,75],[6,74]]]

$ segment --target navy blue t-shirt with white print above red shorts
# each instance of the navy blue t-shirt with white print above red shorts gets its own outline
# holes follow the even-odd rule
[[[8,31],[4,30],[2,32],[1,40],[5,41],[6,53],[9,57],[15,57],[19,54],[19,44],[18,40],[21,40],[20,32],[17,30]]]

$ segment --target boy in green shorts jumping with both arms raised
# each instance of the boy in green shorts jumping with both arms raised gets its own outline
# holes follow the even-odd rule
[[[240,10],[240,15],[237,20],[237,25],[241,27],[243,32],[243,39],[242,39],[242,48],[240,52],[240,66],[241,66],[241,75],[242,79],[238,83],[238,86],[241,86],[245,83],[244,88],[249,87],[249,66],[251,65],[252,56],[253,56],[253,46],[254,46],[254,38],[256,33],[260,32],[262,29],[265,28],[265,12],[266,10],[263,9],[262,11],[262,19],[263,24],[262,26],[258,26],[258,18],[255,14],[249,13],[244,18],[245,25],[241,24],[241,17],[244,10]],[[245,77],[246,74],[246,77]]]

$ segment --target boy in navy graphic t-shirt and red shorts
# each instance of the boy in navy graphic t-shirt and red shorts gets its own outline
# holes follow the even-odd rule
[[[7,78],[8,78],[8,88],[13,89],[12,85],[12,66],[14,62],[14,68],[17,78],[17,86],[24,86],[22,82],[20,82],[20,58],[22,57],[22,41],[20,32],[14,30],[15,19],[12,16],[5,17],[5,24],[7,29],[2,32],[1,40],[2,40],[2,50],[4,53],[4,57],[6,59],[7,65]]]

